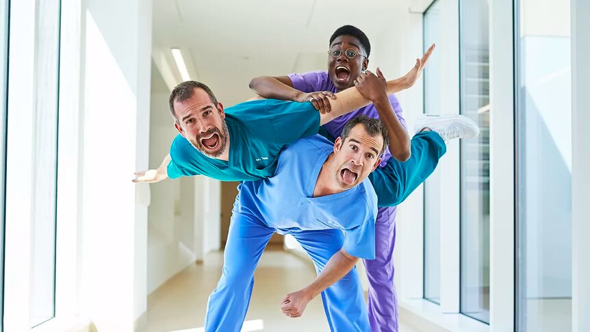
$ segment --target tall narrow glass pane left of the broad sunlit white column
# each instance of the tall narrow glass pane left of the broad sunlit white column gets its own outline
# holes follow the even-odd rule
[[[31,327],[55,316],[60,1],[37,0]]]

